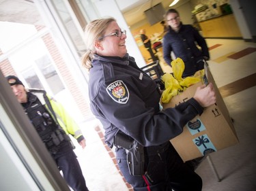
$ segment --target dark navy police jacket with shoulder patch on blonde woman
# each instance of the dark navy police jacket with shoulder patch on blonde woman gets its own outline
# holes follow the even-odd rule
[[[141,145],[160,145],[180,135],[188,120],[203,112],[195,99],[160,111],[158,86],[128,54],[124,58],[95,55],[89,70],[89,97],[110,147],[119,130]]]

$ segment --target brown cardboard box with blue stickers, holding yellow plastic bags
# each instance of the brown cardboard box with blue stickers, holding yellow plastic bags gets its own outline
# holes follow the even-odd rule
[[[196,116],[184,126],[181,135],[170,140],[184,161],[205,156],[210,152],[216,152],[238,143],[229,111],[208,67],[205,67],[205,75],[206,81],[214,84],[216,104],[205,108],[201,116]],[[175,105],[187,101],[194,96],[197,87],[202,84],[199,82],[190,86],[184,92],[173,97],[169,103],[163,104],[163,107],[175,107]]]

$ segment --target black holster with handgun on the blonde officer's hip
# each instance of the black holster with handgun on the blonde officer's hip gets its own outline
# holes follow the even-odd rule
[[[114,145],[126,150],[126,158],[130,175],[143,175],[144,171],[144,147],[132,137],[118,131],[114,136]]]

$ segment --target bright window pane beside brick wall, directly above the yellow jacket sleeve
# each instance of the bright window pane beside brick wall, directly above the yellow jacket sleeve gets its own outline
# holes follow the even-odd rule
[[[44,75],[45,80],[48,86],[50,86],[53,94],[57,94],[61,90],[65,89],[59,75],[57,74],[57,71],[55,70],[55,67],[51,63],[51,59],[47,55],[35,60],[35,63],[42,72],[42,75]]]

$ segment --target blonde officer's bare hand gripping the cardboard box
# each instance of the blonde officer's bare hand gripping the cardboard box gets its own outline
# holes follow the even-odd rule
[[[212,83],[208,86],[199,86],[195,92],[194,99],[202,106],[208,107],[216,103],[216,94]]]

